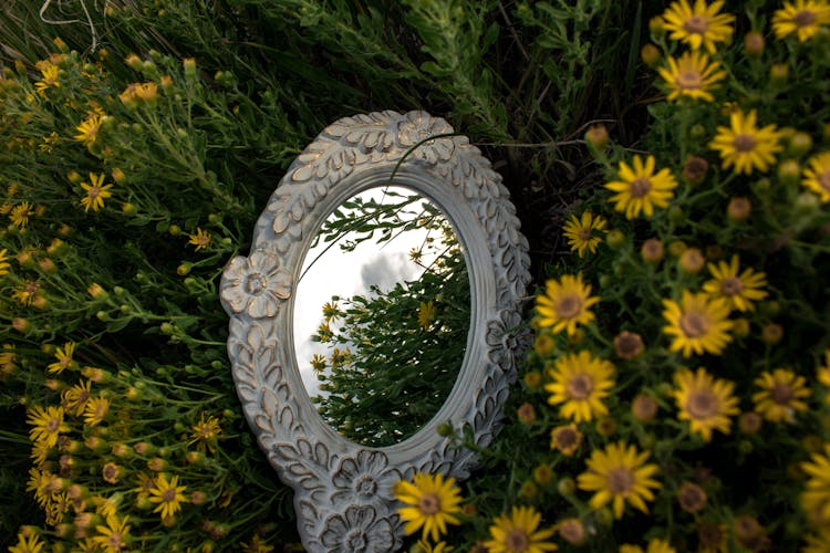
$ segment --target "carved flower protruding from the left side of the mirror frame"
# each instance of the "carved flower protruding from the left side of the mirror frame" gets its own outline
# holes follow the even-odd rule
[[[234,313],[253,319],[274,316],[280,303],[291,296],[291,274],[273,253],[255,251],[230,260],[222,274],[221,299]]]

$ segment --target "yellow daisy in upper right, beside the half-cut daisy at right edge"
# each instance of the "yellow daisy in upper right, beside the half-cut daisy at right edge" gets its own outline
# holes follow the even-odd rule
[[[717,127],[709,148],[720,153],[724,169],[734,165],[736,174],[750,175],[755,169],[767,173],[775,164],[775,155],[784,149],[778,143],[780,134],[775,125],[758,128],[757,118],[755,109],[748,114],[735,109],[729,126]]]

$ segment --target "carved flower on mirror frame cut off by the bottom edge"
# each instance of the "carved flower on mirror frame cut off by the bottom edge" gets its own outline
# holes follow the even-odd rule
[[[395,545],[392,524],[372,507],[350,507],[345,515],[330,517],[320,539],[329,553],[386,553]]]

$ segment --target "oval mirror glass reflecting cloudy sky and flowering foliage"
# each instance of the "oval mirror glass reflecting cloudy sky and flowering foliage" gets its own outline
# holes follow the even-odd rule
[[[329,216],[300,274],[294,351],[323,420],[364,446],[415,434],[467,345],[469,279],[449,221],[411,189],[365,190]]]

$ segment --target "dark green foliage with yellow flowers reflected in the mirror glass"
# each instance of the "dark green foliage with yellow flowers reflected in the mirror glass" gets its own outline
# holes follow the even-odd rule
[[[416,209],[413,209],[415,207]],[[446,400],[464,361],[470,319],[467,268],[449,222],[416,195],[387,191],[384,201],[353,198],[321,229],[345,250],[365,240],[378,246],[407,230],[425,238],[411,252],[419,279],[391,290],[333,298],[314,340],[323,419],[366,446],[396,444],[418,430]]]

